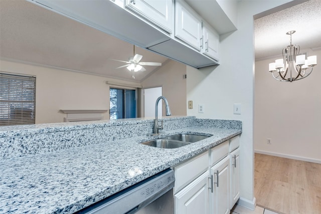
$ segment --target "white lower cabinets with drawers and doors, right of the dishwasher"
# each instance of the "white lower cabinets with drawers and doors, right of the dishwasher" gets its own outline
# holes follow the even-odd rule
[[[238,146],[234,137],[174,167],[175,214],[230,213],[240,197]]]

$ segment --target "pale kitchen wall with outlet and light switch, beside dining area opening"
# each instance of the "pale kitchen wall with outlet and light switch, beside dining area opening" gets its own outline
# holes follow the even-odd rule
[[[240,204],[254,208],[253,87],[254,39],[253,16],[288,1],[240,1],[238,30],[220,37],[220,65],[204,69],[188,67],[187,100],[194,108],[188,115],[201,118],[242,120],[241,199]],[[233,104],[242,105],[242,114],[233,114]],[[205,104],[205,113],[197,105]]]

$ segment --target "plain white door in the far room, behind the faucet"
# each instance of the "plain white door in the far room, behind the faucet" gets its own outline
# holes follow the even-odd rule
[[[155,103],[158,97],[162,96],[162,87],[143,89],[144,96],[144,117],[155,117]],[[162,114],[162,100],[158,103],[158,118]]]

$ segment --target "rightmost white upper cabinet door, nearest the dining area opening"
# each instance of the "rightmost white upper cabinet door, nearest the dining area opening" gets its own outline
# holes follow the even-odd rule
[[[203,24],[203,36],[204,36],[204,54],[215,59],[219,60],[219,35],[216,33],[210,26]]]

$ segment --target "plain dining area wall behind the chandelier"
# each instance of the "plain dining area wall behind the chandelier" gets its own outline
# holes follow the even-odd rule
[[[321,50],[307,53],[321,59]],[[255,151],[321,163],[321,65],[303,80],[279,82],[268,72],[277,58],[255,62]]]

